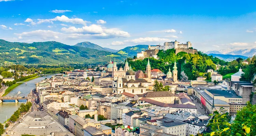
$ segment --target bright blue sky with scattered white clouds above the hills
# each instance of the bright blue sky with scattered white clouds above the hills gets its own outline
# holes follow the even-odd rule
[[[191,41],[202,51],[256,46],[255,1],[0,0],[0,39],[90,41],[122,49]]]

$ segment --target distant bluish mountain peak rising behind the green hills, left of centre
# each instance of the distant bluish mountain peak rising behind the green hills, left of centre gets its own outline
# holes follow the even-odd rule
[[[113,53],[117,52],[117,50],[113,50],[113,49],[110,49],[110,48],[103,48],[99,45],[90,43],[89,41],[85,41],[85,42],[82,42],[82,43],[77,43],[75,46],[85,47],[85,48],[90,48],[90,49],[96,49],[96,50],[100,50],[100,51],[109,51],[109,52],[113,52]]]

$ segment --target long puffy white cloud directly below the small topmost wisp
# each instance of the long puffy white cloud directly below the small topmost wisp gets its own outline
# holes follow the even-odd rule
[[[67,23],[73,23],[73,24],[83,24],[84,26],[86,26],[86,23],[89,23],[89,21],[85,21],[81,18],[68,18],[65,15],[57,16],[53,19],[37,19],[38,22],[37,24],[41,24],[41,23],[53,23],[53,21],[60,21],[60,22],[67,22]]]

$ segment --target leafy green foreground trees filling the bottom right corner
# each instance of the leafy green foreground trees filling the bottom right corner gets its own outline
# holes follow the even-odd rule
[[[229,113],[220,108],[211,116],[208,127],[209,133],[200,136],[255,136],[256,135],[256,105],[247,102],[247,106],[237,113],[235,120],[230,122]]]

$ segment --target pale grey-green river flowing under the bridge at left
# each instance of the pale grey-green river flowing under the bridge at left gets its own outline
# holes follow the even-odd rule
[[[17,86],[16,88],[14,88],[11,92],[9,92],[8,95],[6,96],[25,96],[27,97],[27,95],[30,93],[31,89],[35,89],[35,83],[40,82],[42,80],[44,80],[45,78],[51,78],[52,76],[47,76],[47,77],[39,77],[36,79],[32,79],[28,82],[32,82],[32,83],[27,83],[27,85],[25,83]],[[18,92],[21,91],[20,94],[18,94]],[[26,103],[27,100],[19,100],[18,103],[15,103],[14,100],[4,100],[2,103],[0,103],[0,123],[3,123],[6,120],[6,116],[7,119],[9,119],[12,114],[17,111],[18,107],[20,104],[22,103]]]

